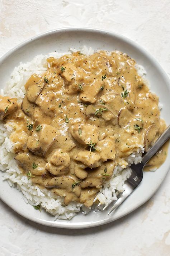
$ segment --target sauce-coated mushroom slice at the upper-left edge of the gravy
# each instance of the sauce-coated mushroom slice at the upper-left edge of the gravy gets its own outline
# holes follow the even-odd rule
[[[38,97],[38,95],[41,93],[43,87],[45,85],[44,79],[40,78],[38,75],[33,74],[29,80],[27,81],[27,84],[25,85],[25,88],[27,88],[27,99],[29,102],[34,103]]]

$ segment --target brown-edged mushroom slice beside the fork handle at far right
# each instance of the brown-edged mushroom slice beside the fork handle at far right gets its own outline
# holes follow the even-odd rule
[[[148,129],[146,131],[146,134],[145,134],[145,138],[144,138],[144,147],[145,147],[146,152],[152,146],[152,143],[154,142],[154,138],[156,136],[156,133],[157,133],[156,125],[151,125],[151,126],[148,127]]]

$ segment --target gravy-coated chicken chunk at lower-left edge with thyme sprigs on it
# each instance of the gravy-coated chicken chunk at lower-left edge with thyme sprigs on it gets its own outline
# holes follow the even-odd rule
[[[24,171],[31,172],[32,175],[42,175],[45,171],[46,161],[44,158],[32,153],[21,153],[15,157],[15,160]]]

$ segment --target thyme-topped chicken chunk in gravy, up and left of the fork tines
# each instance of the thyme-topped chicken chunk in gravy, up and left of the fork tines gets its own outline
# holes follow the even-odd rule
[[[114,165],[114,161],[108,161],[94,170],[89,170],[87,178],[80,183],[81,188],[101,188],[103,181],[112,175]]]

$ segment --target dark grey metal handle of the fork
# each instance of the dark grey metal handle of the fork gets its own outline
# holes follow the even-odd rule
[[[170,138],[170,125],[162,133],[162,135],[156,140],[153,147],[142,157],[143,167],[150,160],[152,156],[164,145],[164,143]]]

